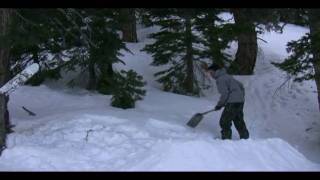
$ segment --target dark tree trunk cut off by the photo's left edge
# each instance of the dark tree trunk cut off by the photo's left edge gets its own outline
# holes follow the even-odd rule
[[[0,37],[5,37],[10,22],[11,10],[0,9]],[[9,48],[3,40],[0,45],[0,86],[3,86],[9,80]],[[9,128],[9,97],[0,95],[0,153],[5,147],[6,134]]]

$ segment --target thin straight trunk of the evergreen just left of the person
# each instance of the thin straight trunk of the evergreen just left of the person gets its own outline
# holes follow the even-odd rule
[[[191,32],[191,19],[188,15],[185,18],[185,36],[186,36],[186,56],[185,62],[187,64],[187,77],[185,79],[185,89],[187,93],[194,94],[194,74],[193,74],[193,52],[192,52],[192,32]]]

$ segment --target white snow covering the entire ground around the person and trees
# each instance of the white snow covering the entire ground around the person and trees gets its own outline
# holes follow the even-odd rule
[[[287,56],[285,44],[306,29],[289,25],[284,34],[266,33],[259,42],[255,75],[236,77],[246,88],[245,121],[249,140],[220,137],[220,112],[208,114],[195,129],[190,117],[214,107],[213,88],[196,98],[163,92],[152,76],[150,43],[139,28],[139,43],[123,58],[148,82],[147,95],[135,109],[111,107],[110,96],[47,83],[23,86],[9,101],[15,132],[0,157],[0,170],[34,171],[319,171],[320,113],[314,82],[289,83],[271,61]],[[235,48],[233,48],[235,50]],[[275,93],[276,92],[276,93]],[[37,116],[29,116],[25,106]]]

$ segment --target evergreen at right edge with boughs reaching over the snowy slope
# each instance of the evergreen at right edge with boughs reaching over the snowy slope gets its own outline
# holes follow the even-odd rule
[[[273,63],[294,77],[294,81],[315,80],[320,110],[320,10],[306,10],[310,33],[287,44],[290,54],[282,63]]]

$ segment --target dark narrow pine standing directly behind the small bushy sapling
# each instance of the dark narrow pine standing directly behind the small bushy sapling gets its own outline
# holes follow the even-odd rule
[[[106,12],[108,14],[97,14],[92,17],[91,25],[91,41],[95,43],[96,47],[90,46],[89,61],[96,66],[99,71],[96,71],[97,84],[96,89],[103,94],[111,94],[111,82],[114,78],[114,70],[112,64],[122,62],[119,57],[121,49],[128,50],[125,44],[117,34],[119,30],[118,22],[116,20],[117,12],[115,10]],[[109,17],[109,22],[105,22],[104,17]],[[95,77],[90,79],[94,80]]]

